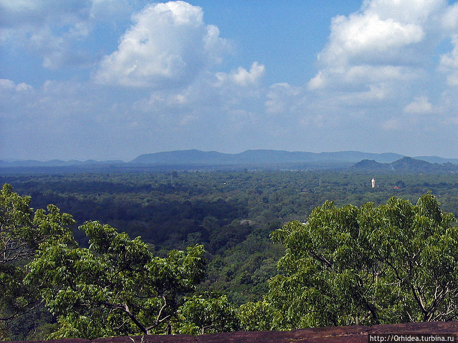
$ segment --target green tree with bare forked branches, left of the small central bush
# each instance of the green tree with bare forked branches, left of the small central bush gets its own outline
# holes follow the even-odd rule
[[[59,316],[50,338],[163,333],[181,296],[203,278],[203,246],[159,258],[109,225],[80,228],[89,248],[49,244],[29,265],[26,282],[42,282],[44,302]]]

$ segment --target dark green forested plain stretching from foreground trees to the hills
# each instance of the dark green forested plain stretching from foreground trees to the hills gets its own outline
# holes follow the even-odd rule
[[[366,202],[379,206],[393,196],[415,203],[432,191],[442,210],[458,213],[458,178],[453,174],[173,171],[11,175],[0,177],[0,183],[31,196],[33,208],[51,203],[71,214],[76,223],[70,227],[81,247],[89,247],[89,236],[77,226],[89,220],[126,232],[130,239],[141,236],[148,251],[160,258],[168,258],[172,249],[202,244],[208,265],[202,282],[196,283],[197,294],[212,294],[212,299],[227,295],[231,306],[262,301],[269,291],[267,281],[279,273],[285,236],[275,243],[271,232],[287,222],[307,221],[327,200],[338,207]],[[10,326],[14,337],[26,338],[53,321],[43,313],[38,319],[31,316],[29,326]]]

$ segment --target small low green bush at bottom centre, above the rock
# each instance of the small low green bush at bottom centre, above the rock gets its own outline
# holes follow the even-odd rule
[[[194,295],[178,309],[178,333],[194,336],[204,333],[232,332],[239,329],[235,306],[227,296]]]

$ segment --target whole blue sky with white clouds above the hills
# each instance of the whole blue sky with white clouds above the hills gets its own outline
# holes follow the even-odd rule
[[[452,0],[0,0],[0,160],[458,158]]]

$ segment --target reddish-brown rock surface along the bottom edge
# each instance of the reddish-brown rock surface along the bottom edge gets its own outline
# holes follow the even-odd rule
[[[292,331],[250,331],[191,335],[148,335],[88,339],[34,340],[28,343],[359,343],[368,334],[457,334],[458,322],[428,322],[368,326],[339,326]],[[15,341],[24,343],[24,341]]]

